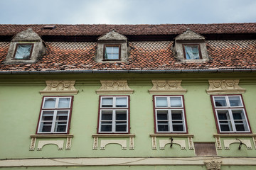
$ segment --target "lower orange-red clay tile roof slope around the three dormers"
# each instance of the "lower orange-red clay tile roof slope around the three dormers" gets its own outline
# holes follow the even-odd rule
[[[0,72],[58,70],[256,69],[256,40],[208,40],[211,60],[183,63],[173,41],[129,42],[128,62],[95,62],[97,42],[46,42],[46,55],[35,64],[2,64],[10,42],[0,42]]]

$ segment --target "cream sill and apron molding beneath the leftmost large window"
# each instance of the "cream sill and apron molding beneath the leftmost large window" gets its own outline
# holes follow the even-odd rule
[[[66,138],[66,146],[65,149],[66,150],[70,150],[71,149],[71,139],[73,138],[72,134],[54,134],[54,135],[31,135],[31,145],[29,150],[30,151],[34,151],[35,147],[36,147],[36,140],[38,140],[37,142],[37,150],[41,151],[42,148],[45,145],[57,145],[58,146],[58,150],[63,150],[63,145],[64,145],[64,140],[43,140],[43,138]]]

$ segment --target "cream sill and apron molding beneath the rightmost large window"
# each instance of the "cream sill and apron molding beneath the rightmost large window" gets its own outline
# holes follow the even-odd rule
[[[252,137],[252,142],[256,149],[256,134],[255,133],[232,133],[232,134],[213,134],[216,141],[217,149],[222,149],[220,137],[233,137],[233,139],[222,139],[225,149],[230,149],[230,145],[233,143],[240,143],[246,145],[247,149],[252,149],[252,143],[250,139],[238,139],[237,137]]]

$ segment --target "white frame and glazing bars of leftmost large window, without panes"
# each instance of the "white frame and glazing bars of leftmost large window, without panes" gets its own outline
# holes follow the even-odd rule
[[[47,98],[56,98],[54,108],[44,108]],[[59,103],[60,98],[70,98],[70,103],[69,103],[68,108],[58,108],[58,103]],[[37,133],[38,134],[66,134],[66,133],[68,133],[68,128],[70,126],[70,112],[71,112],[72,101],[73,101],[72,96],[44,96],[43,103],[41,106],[41,114],[40,114],[40,118],[39,118],[39,122],[38,122]],[[53,111],[53,120],[42,120],[44,111]],[[61,125],[66,125],[65,132],[55,132],[55,125],[56,125],[56,123],[59,122],[59,120],[56,120],[58,111],[68,111],[68,118],[66,120],[66,124],[61,124]],[[62,121],[64,121],[64,120],[62,120]],[[43,122],[52,122],[50,132],[41,132],[40,131],[40,127]]]

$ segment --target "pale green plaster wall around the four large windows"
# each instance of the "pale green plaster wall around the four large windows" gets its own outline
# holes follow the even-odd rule
[[[44,79],[44,78],[42,78]],[[80,77],[82,79],[82,77]],[[83,78],[84,79],[84,78]],[[105,78],[106,79],[106,78]],[[31,143],[30,135],[36,133],[38,116],[41,107],[42,96],[39,91],[45,88],[43,81],[36,85],[4,84],[0,86],[0,159],[42,158],[42,157],[194,157],[194,150],[181,150],[179,145],[166,145],[163,150],[151,149],[151,137],[154,133],[154,112],[150,81],[138,83],[131,78],[129,87],[134,89],[130,95],[130,132],[135,134],[134,150],[121,149],[119,145],[107,145],[105,150],[92,150],[92,134],[97,133],[98,101],[99,95],[95,93],[100,88],[100,81],[77,81],[75,88],[79,93],[74,96],[73,113],[70,124],[70,134],[73,134],[70,150],[58,150],[55,145],[46,145],[42,151],[29,151]],[[186,120],[188,133],[193,134],[193,142],[215,142],[213,134],[217,133],[213,108],[210,96],[206,94],[208,82],[190,83],[191,80],[182,84],[187,93],[183,94],[186,107]],[[199,81],[199,80],[198,80]],[[35,81],[36,82],[36,81]],[[255,84],[243,84],[242,88],[247,91],[242,94],[250,120],[252,132],[256,132],[254,121],[256,120],[256,91]],[[168,137],[162,139],[169,139]],[[46,139],[59,140],[59,139]],[[176,137],[176,140],[179,140]],[[253,143],[252,143],[253,144]],[[64,144],[65,146],[65,144]],[[37,147],[37,145],[36,145]],[[238,151],[238,146],[231,145],[230,150],[224,147],[218,150],[218,156],[222,157],[255,157],[255,148]],[[153,166],[151,166],[152,168]],[[176,166],[179,169],[181,166]],[[80,167],[74,167],[80,169]],[[114,167],[116,168],[116,166]],[[134,166],[132,166],[134,168]],[[131,168],[131,169],[132,169]],[[145,168],[145,167],[144,167]],[[151,169],[150,168],[150,169]],[[154,166],[154,168],[156,168]],[[57,167],[55,169],[58,169]],[[87,169],[94,169],[88,167]],[[128,169],[128,167],[125,167]],[[167,169],[159,166],[159,169]],[[171,168],[168,168],[171,169]],[[182,168],[181,168],[182,169]],[[198,169],[198,168],[197,168]],[[199,169],[204,169],[200,168]],[[228,169],[228,167],[227,167]]]

